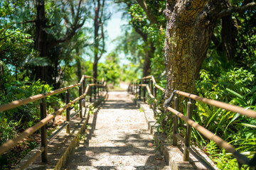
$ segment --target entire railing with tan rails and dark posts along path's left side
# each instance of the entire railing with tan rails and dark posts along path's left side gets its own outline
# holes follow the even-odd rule
[[[89,79],[88,84],[86,85],[86,79]],[[92,79],[94,80],[94,83],[92,84]],[[70,101],[69,98],[69,89],[73,89],[75,87],[79,86],[79,96],[75,98],[73,101]],[[37,94],[35,96],[30,96],[28,98],[23,98],[21,100],[17,101],[11,101],[10,103],[6,103],[4,105],[0,106],[0,112],[2,111],[8,111],[12,108],[16,108],[18,106],[22,106],[26,103],[31,103],[33,101],[38,101],[41,100],[40,103],[40,110],[41,110],[41,120],[36,123],[36,125],[33,125],[31,128],[28,128],[21,132],[20,135],[14,137],[11,140],[6,141],[4,144],[0,146],[0,155],[4,154],[6,151],[11,149],[11,147],[14,147],[19,141],[23,140],[24,138],[28,137],[29,135],[32,135],[33,132],[36,132],[36,130],[39,130],[41,128],[41,149],[39,149],[31,159],[26,162],[26,164],[23,164],[19,169],[25,169],[26,166],[28,166],[31,162],[33,162],[36,157],[42,155],[42,162],[47,162],[47,145],[48,141],[52,140],[55,135],[58,135],[58,132],[60,132],[63,128],[66,128],[66,132],[70,132],[70,119],[74,118],[75,115],[79,113],[80,118],[82,118],[82,100],[84,100],[84,106],[85,106],[85,97],[90,91],[90,102],[92,102],[92,87],[94,88],[94,96],[95,99],[97,96],[100,95],[101,91],[106,91],[107,92],[107,84],[102,79],[102,81],[98,81],[97,79],[83,75],[82,78],[80,79],[80,82],[78,84],[70,85],[70,86],[65,86],[60,89],[56,89],[54,91],[49,91],[45,94]],[[58,94],[60,92],[66,91],[66,105],[63,106],[63,108],[58,109],[58,111],[55,111],[53,114],[50,114],[46,116],[46,101],[45,98],[47,96],[53,96],[55,94]],[[79,101],[79,106],[80,109],[78,112],[74,113],[73,115],[70,116],[70,106],[72,106],[74,103]],[[46,123],[48,123],[50,120],[53,120],[56,115],[60,115],[60,113],[63,113],[63,111],[66,111],[66,122],[62,127],[60,127],[59,130],[55,132],[55,134],[51,135],[50,137],[47,138],[46,135]]]

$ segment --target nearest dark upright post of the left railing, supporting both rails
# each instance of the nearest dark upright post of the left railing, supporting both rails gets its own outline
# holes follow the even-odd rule
[[[46,118],[46,99],[42,98],[40,102],[40,115],[41,120]],[[48,142],[47,142],[47,130],[46,125],[43,125],[41,128],[41,146],[44,147],[44,151],[42,152],[42,162],[48,161]]]

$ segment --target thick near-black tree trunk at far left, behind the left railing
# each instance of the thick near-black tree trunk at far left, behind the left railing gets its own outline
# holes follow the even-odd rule
[[[36,0],[36,50],[40,57],[47,57],[46,12],[43,0]],[[36,79],[46,81],[46,67],[36,67]]]

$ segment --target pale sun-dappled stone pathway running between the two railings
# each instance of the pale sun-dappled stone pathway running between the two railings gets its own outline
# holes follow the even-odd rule
[[[127,92],[109,93],[83,137],[65,169],[169,169]]]

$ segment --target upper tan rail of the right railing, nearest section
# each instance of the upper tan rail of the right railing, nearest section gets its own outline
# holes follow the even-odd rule
[[[245,108],[242,108],[242,107],[239,107],[239,106],[233,106],[233,105],[230,105],[228,103],[223,103],[221,101],[214,101],[214,100],[211,100],[211,99],[208,99],[208,98],[203,98],[203,97],[200,97],[200,96],[196,96],[194,94],[188,94],[188,93],[183,92],[183,91],[174,91],[174,92],[176,94],[181,95],[181,96],[185,96],[185,97],[188,97],[188,98],[192,98],[196,101],[201,101],[203,103],[207,103],[211,106],[216,106],[218,108],[223,108],[227,111],[232,111],[232,112],[235,112],[235,113],[240,113],[242,115],[246,115],[246,116],[251,117],[251,118],[256,118],[256,112],[252,111],[250,109],[245,110]]]

